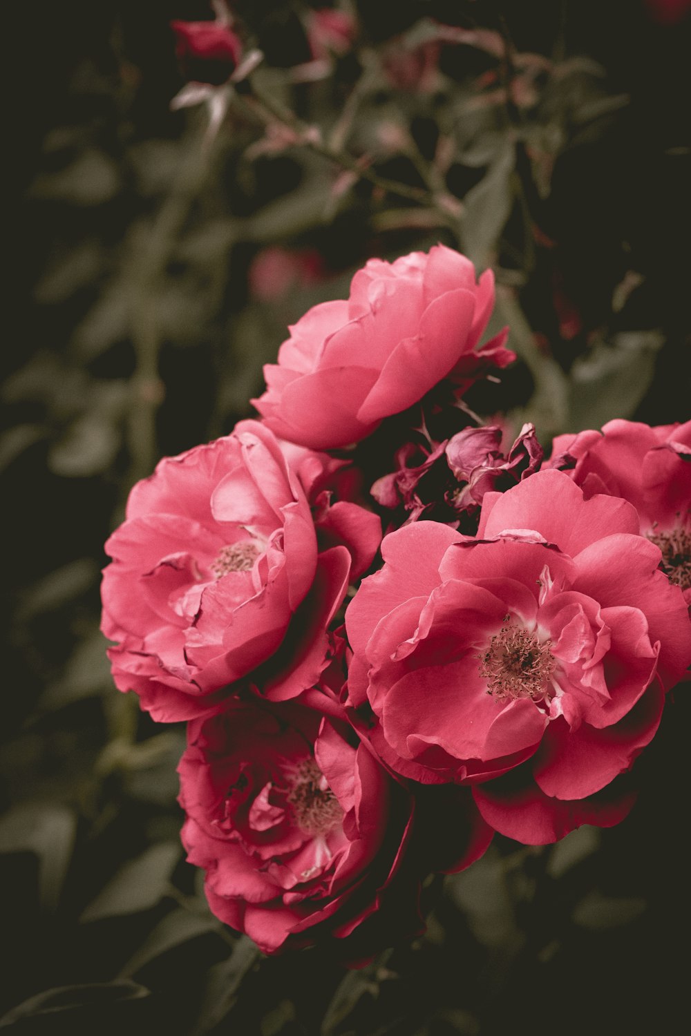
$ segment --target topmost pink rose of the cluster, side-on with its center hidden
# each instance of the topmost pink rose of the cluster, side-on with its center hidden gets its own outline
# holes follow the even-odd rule
[[[473,351],[493,305],[491,270],[476,283],[472,263],[443,244],[393,263],[370,259],[347,301],[315,306],[290,328],[253,402],[289,441],[355,442],[457,369],[465,384],[488,354],[499,365],[513,358],[497,340]]]

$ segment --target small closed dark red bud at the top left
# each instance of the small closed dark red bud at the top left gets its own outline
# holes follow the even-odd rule
[[[175,53],[185,79],[196,83],[226,83],[237,67],[242,42],[224,22],[171,22]]]

